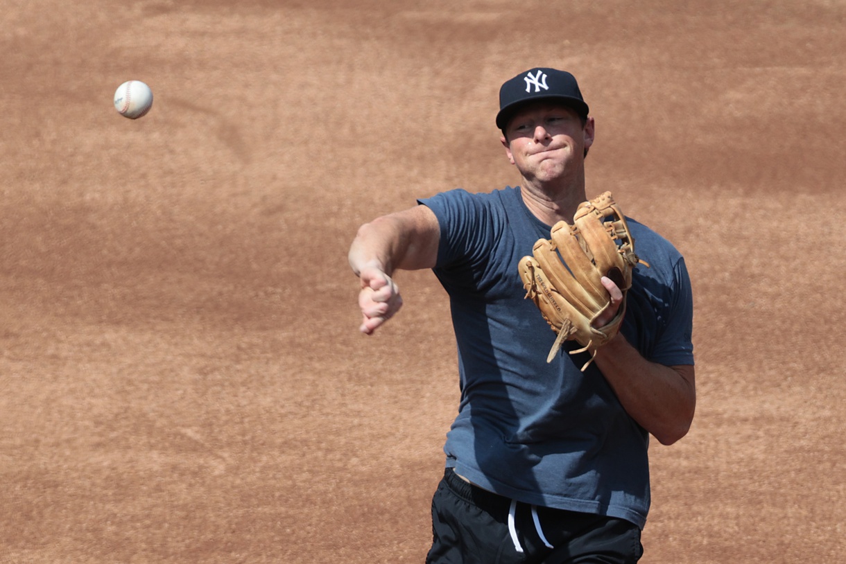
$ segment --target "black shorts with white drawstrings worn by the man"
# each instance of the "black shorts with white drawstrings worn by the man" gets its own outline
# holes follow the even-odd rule
[[[615,517],[530,506],[447,468],[431,502],[427,564],[634,564],[640,528]]]

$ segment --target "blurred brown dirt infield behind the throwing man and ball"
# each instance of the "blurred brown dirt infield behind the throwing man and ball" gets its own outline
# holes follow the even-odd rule
[[[448,306],[404,273],[361,336],[346,251],[516,183],[493,117],[533,66],[580,79],[589,193],[694,281],[643,561],[846,560],[843,0],[0,8],[0,561],[423,561]]]

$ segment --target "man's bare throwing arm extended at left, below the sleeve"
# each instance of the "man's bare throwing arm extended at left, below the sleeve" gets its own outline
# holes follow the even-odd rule
[[[397,270],[433,268],[441,231],[426,205],[377,217],[359,227],[349,248],[349,266],[361,281],[360,331],[371,335],[403,305],[393,282]]]

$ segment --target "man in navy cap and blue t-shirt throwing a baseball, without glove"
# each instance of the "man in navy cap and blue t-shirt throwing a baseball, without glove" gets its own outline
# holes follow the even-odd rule
[[[403,304],[393,274],[432,268],[450,297],[461,400],[432,501],[427,562],[636,562],[650,504],[648,435],[689,430],[695,408],[693,305],[684,259],[629,219],[637,266],[624,324],[585,372],[555,340],[519,277],[538,238],[572,223],[595,120],[572,74],[533,68],[500,89],[497,127],[519,187],[419,200],[360,227],[360,330]],[[602,190],[601,190],[602,191]],[[616,315],[620,289],[603,278]]]

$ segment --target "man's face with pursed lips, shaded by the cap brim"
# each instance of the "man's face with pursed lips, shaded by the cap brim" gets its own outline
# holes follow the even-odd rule
[[[593,134],[593,118],[582,125],[572,108],[540,101],[514,114],[502,141],[508,160],[523,177],[544,183],[579,172]]]

